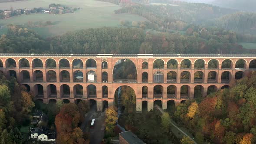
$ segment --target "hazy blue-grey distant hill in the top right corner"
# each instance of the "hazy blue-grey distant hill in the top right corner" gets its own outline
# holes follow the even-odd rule
[[[256,0],[214,0],[211,4],[219,7],[256,12]]]

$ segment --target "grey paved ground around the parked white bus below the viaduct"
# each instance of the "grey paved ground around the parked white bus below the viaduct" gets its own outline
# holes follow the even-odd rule
[[[90,128],[92,118],[95,118],[94,128]],[[90,111],[85,114],[85,120],[80,128],[83,132],[90,132],[90,144],[100,144],[104,138],[105,130],[105,112],[96,112],[96,105],[92,106]]]

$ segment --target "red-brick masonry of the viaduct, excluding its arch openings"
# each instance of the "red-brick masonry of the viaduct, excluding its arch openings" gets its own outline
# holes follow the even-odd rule
[[[16,67],[15,68],[8,68],[7,67],[7,59],[14,59],[16,62]],[[27,59],[29,61],[30,67],[29,68],[22,68],[20,67],[20,60],[21,59]],[[43,67],[42,68],[33,68],[33,60],[34,59],[40,59],[43,62]],[[54,59],[56,61],[56,68],[54,69],[48,69],[46,68],[46,60],[47,59]],[[61,59],[67,59],[69,61],[69,68],[59,68],[59,61]],[[72,62],[75,59],[81,59],[83,62],[83,68],[82,69],[76,69],[73,68]],[[96,68],[90,68],[87,69],[85,66],[85,63],[88,59],[94,59],[96,61]],[[120,59],[130,59],[132,62],[134,62],[136,69],[137,69],[137,82],[136,83],[115,83],[113,82],[113,69],[115,66],[115,63],[120,60]],[[153,63],[156,59],[162,59],[164,61],[164,69],[154,69],[153,68]],[[177,69],[167,69],[167,62],[170,59],[175,59],[178,62]],[[181,69],[181,62],[184,59],[189,59],[191,61],[191,69]],[[198,59],[203,59],[205,62],[204,69],[194,69],[194,63]],[[211,59],[216,59],[219,62],[218,68],[217,69],[208,69],[208,62]],[[230,59],[232,61],[232,65],[230,69],[222,69],[222,62],[225,59]],[[236,69],[235,64],[239,59],[243,59],[246,62],[246,66],[244,69]],[[0,71],[3,72],[4,75],[11,76],[10,75],[10,70],[13,70],[16,72],[16,77],[17,80],[21,84],[26,84],[30,86],[30,91],[33,92],[36,96],[36,88],[35,85],[40,84],[43,85],[43,96],[42,97],[36,97],[38,99],[43,99],[45,103],[48,103],[50,99],[56,99],[56,100],[63,100],[63,99],[69,99],[70,102],[74,102],[77,99],[81,100],[90,100],[94,99],[97,101],[97,110],[100,111],[102,109],[102,101],[108,101],[108,105],[113,105],[114,104],[114,94],[115,90],[118,89],[118,87],[122,85],[128,85],[131,88],[134,89],[135,94],[136,94],[136,111],[141,111],[142,110],[142,101],[148,101],[148,110],[151,110],[153,108],[153,103],[155,100],[161,100],[163,109],[167,108],[167,101],[169,100],[174,100],[176,103],[180,103],[182,100],[186,100],[187,98],[194,98],[194,88],[197,85],[201,85],[203,87],[203,96],[207,95],[207,88],[210,85],[215,85],[217,89],[222,88],[224,85],[229,85],[229,83],[221,83],[221,74],[222,72],[228,71],[231,73],[230,77],[230,82],[235,80],[235,74],[236,72],[242,71],[244,72],[245,75],[248,75],[251,71],[254,69],[249,69],[249,63],[256,59],[256,57],[248,57],[248,56],[240,56],[240,57],[223,57],[223,56],[217,56],[217,57],[168,57],[168,56],[159,56],[159,57],[154,57],[154,56],[0,56],[0,60],[3,62],[3,67],[0,67]],[[102,62],[107,62],[108,63],[108,68],[107,69],[102,69]],[[142,69],[142,63],[143,62],[148,62],[148,69]],[[30,80],[24,82],[22,80],[21,72],[22,71],[28,71],[30,73]],[[43,81],[42,82],[35,82],[34,81],[34,75],[33,73],[36,70],[40,70],[43,72]],[[49,70],[53,70],[56,72],[56,82],[48,82],[47,81],[47,72]],[[60,73],[66,70],[69,72],[70,75],[70,81],[69,82],[61,82],[60,81]],[[83,72],[83,82],[74,82],[73,81],[73,73],[75,71],[82,71]],[[86,73],[89,71],[95,71],[97,74],[97,82],[86,82]],[[164,73],[164,82],[163,83],[154,83],[153,75],[154,72],[156,71],[161,71]],[[167,83],[167,73],[170,71],[177,72],[177,82],[175,83]],[[181,77],[181,72],[188,71],[190,72],[190,82],[189,83],[181,83],[180,77]],[[197,71],[201,71],[204,74],[203,82],[200,83],[194,83],[194,73]],[[215,83],[209,83],[207,82],[207,76],[208,72],[210,71],[215,71],[217,72],[218,79],[217,82]],[[107,82],[102,82],[102,72],[107,72],[108,73],[108,81]],[[148,73],[148,82],[147,83],[142,83],[142,73],[147,72]],[[49,87],[48,85],[53,84],[56,86],[57,90],[57,95],[56,97],[49,97]],[[61,85],[66,84],[69,85],[70,88],[70,96],[67,97],[62,97],[62,89]],[[82,85],[83,87],[83,95],[82,96],[76,96],[74,94],[74,86],[75,85]],[[87,86],[88,85],[95,85],[97,88],[96,91],[96,97],[94,98],[89,98],[87,95]],[[155,98],[154,97],[154,86],[155,85],[161,85],[163,87],[163,95],[161,98]],[[177,90],[175,93],[174,98],[168,98],[167,97],[167,87],[169,85],[175,85]],[[188,85],[189,86],[189,94],[187,97],[182,98],[180,94],[181,86],[183,85]],[[102,96],[102,86],[107,86],[108,87],[108,97],[103,98]],[[147,86],[148,87],[148,95],[147,98],[142,97],[142,87]]]

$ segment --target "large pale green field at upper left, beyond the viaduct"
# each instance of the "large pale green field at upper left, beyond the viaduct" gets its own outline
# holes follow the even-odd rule
[[[134,14],[115,14],[114,10],[118,10],[121,7],[112,3],[95,0],[28,0],[0,3],[0,9],[10,9],[10,6],[12,6],[14,9],[24,7],[48,7],[50,3],[60,3],[70,7],[81,7],[82,9],[75,11],[75,13],[66,14],[30,14],[15,16],[6,20],[0,20],[0,25],[16,24],[26,26],[28,21],[31,21],[32,23],[42,21],[44,23],[49,20],[54,23],[53,26],[30,27],[30,29],[34,29],[37,33],[43,36],[50,36],[63,34],[68,31],[78,29],[97,28],[103,26],[120,26],[120,20],[146,20],[145,18]]]

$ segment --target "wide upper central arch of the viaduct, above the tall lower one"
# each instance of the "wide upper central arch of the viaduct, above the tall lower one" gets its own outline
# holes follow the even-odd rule
[[[131,59],[118,59],[112,72],[115,83],[137,82],[137,67]]]

